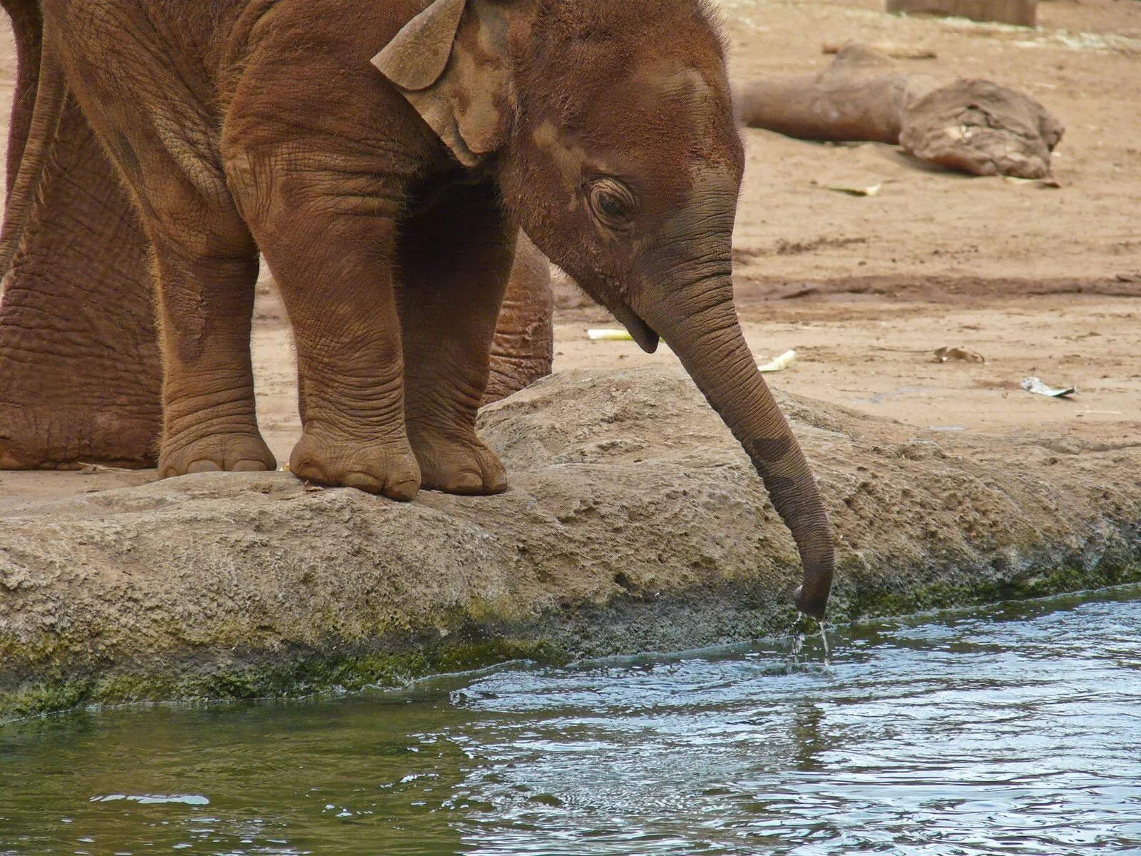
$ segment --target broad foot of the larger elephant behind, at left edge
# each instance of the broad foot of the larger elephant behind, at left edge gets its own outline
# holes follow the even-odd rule
[[[153,467],[160,419],[0,405],[0,470]]]

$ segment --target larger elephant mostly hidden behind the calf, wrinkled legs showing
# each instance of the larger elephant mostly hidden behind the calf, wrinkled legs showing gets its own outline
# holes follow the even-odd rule
[[[39,0],[0,6],[19,58],[10,191],[35,105],[42,19]],[[149,252],[118,171],[70,98],[0,302],[0,469],[156,465],[162,363]],[[550,373],[552,304],[547,258],[523,236],[485,403]]]

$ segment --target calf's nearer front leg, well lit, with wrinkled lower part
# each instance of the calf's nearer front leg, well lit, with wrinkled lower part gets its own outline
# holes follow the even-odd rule
[[[243,163],[250,163],[246,158]],[[297,173],[264,158],[235,171],[246,221],[277,281],[297,345],[301,439],[298,478],[407,501],[420,468],[404,428],[404,360],[393,264],[396,221],[382,201],[342,187],[345,172]]]

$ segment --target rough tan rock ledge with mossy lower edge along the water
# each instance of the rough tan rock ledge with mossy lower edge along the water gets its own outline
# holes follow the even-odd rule
[[[836,621],[1139,578],[1138,447],[915,439],[782,396],[841,541]],[[0,500],[0,721],[357,687],[786,631],[792,540],[679,370],[486,409],[512,490],[395,504],[288,474]],[[1013,461],[1013,462],[1012,462]]]

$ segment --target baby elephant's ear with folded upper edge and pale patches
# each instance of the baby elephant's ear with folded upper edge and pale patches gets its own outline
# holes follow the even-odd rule
[[[503,7],[434,0],[372,60],[466,167],[502,145],[515,114]]]

